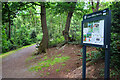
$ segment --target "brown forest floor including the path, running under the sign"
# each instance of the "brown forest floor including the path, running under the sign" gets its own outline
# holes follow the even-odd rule
[[[17,51],[2,59],[3,78],[82,78],[82,47],[80,45],[67,44],[61,48],[49,48],[47,53],[33,56],[35,45]],[[93,47],[87,47],[87,52],[95,51]],[[52,57],[67,56],[66,61],[52,66],[43,67],[42,70],[32,71],[31,67],[39,62]],[[57,58],[58,59],[58,58]],[[60,58],[59,58],[60,59]],[[87,62],[89,63],[89,62]],[[39,67],[39,66],[37,66]],[[99,60],[86,68],[87,78],[101,78],[101,70],[104,69],[104,61]]]

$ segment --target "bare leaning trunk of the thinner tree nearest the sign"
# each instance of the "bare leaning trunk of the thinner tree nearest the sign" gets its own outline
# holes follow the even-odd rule
[[[74,3],[76,4],[76,2]],[[68,13],[67,16],[67,20],[66,20],[66,24],[65,24],[65,30],[63,30],[63,36],[65,39],[65,43],[68,43],[68,41],[70,41],[70,37],[69,37],[69,29],[70,29],[70,23],[71,23],[71,18],[74,12],[75,6],[72,8],[72,10]]]

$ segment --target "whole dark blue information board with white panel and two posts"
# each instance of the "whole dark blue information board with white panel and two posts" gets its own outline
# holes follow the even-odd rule
[[[111,11],[107,8],[83,16],[81,44],[83,45],[82,78],[86,79],[86,46],[105,49],[105,80],[110,75],[110,29]]]

